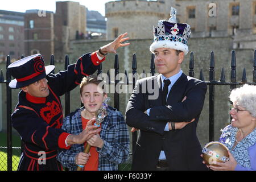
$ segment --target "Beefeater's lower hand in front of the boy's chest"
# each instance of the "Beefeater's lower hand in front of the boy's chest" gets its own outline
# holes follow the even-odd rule
[[[84,143],[87,139],[92,137],[93,135],[99,133],[101,129],[96,129],[97,126],[92,125],[92,123],[95,121],[95,118],[90,119],[88,121],[86,128],[80,133],[79,135],[69,135],[67,138],[67,144],[82,144]],[[96,130],[95,130],[96,129]]]

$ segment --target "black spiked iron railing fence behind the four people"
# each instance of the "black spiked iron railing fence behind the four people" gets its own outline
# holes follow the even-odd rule
[[[189,59],[189,76],[194,77],[194,59],[193,59],[193,52],[191,52],[190,59]],[[23,58],[23,56],[22,56]],[[6,68],[10,64],[10,56],[7,56],[6,60]],[[51,56],[51,62],[50,64],[54,65],[54,56]],[[65,69],[68,68],[69,65],[69,57],[65,56]],[[203,80],[207,83],[209,86],[209,141],[214,140],[214,95],[215,91],[214,88],[216,85],[230,85],[230,90],[236,88],[238,85],[243,85],[243,84],[249,84],[249,85],[256,85],[256,49],[254,51],[254,60],[253,60],[253,82],[247,82],[247,77],[246,77],[246,69],[243,69],[243,74],[242,74],[242,80],[237,81],[237,75],[236,75],[236,52],[232,51],[232,60],[231,60],[231,65],[230,65],[230,81],[226,81],[225,79],[225,72],[224,68],[221,70],[221,76],[220,80],[215,80],[214,76],[214,53],[210,53],[210,65],[209,65],[209,81],[205,81],[203,71],[201,69],[200,71],[200,80]],[[137,59],[136,55],[133,55],[133,61],[132,61],[132,74],[133,74],[133,80],[129,80],[129,77],[127,76],[127,72],[125,71],[126,75],[126,81],[120,81],[117,78],[117,75],[119,73],[119,61],[118,61],[118,55],[115,55],[115,60],[114,60],[114,70],[115,70],[115,80],[112,82],[110,81],[110,76],[109,76],[109,71],[107,72],[107,75],[109,76],[109,82],[108,84],[114,84],[117,86],[117,84],[132,84],[133,88],[135,86],[136,80],[136,75],[137,75]],[[97,75],[102,73],[102,67],[100,65],[100,68],[98,69]],[[143,72],[144,73],[144,72]],[[154,64],[154,54],[151,56],[151,64],[150,64],[150,73],[152,76],[155,75],[155,64]],[[146,76],[146,74],[145,74]],[[7,170],[11,171],[16,166],[13,168],[13,151],[14,150],[20,150],[19,147],[14,148],[12,145],[12,128],[11,128],[11,111],[12,111],[12,106],[11,106],[11,89],[9,88],[9,82],[11,81],[11,75],[8,71],[6,71],[6,80],[3,76],[3,72],[1,71],[0,75],[0,84],[6,84],[6,108],[7,108],[7,146],[6,147],[0,147],[0,152],[4,151],[0,154],[4,154],[5,156],[0,156],[0,170],[1,169],[1,164],[4,163],[2,162],[3,160],[7,161]],[[70,93],[65,93],[65,115],[68,115],[70,113]],[[119,98],[119,93],[115,92],[114,93],[114,107],[119,110],[119,105],[120,104],[120,98]],[[134,148],[135,143],[137,141],[137,131],[135,131],[132,134],[132,146]],[[6,154],[7,153],[7,154]],[[6,160],[7,158],[7,160]],[[2,160],[2,161],[1,161]],[[129,155],[129,160],[131,162],[131,154]],[[18,163],[15,163],[15,165]],[[4,168],[4,167],[2,167]],[[129,170],[130,169],[130,163],[122,164],[119,166],[119,170]]]

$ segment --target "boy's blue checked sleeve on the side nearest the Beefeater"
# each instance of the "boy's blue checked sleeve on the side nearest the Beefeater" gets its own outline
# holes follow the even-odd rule
[[[67,133],[72,133],[71,132],[71,126],[69,123],[69,116],[66,117],[63,120],[63,126],[61,129],[67,131]],[[67,168],[72,168],[76,166],[75,158],[76,158],[76,150],[75,150],[76,144],[73,144],[69,150],[59,150],[59,154],[57,155],[57,160]]]

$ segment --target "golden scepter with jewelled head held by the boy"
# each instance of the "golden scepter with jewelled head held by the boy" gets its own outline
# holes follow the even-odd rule
[[[98,129],[101,126],[101,122],[104,121],[104,118],[108,115],[106,109],[109,106],[108,105],[109,100],[110,100],[110,98],[107,97],[104,100],[104,102],[102,103],[102,106],[100,107],[100,109],[98,109],[96,111],[96,122],[94,123],[94,125],[97,126],[97,128],[95,128],[94,130]],[[92,146],[90,146],[90,144],[87,143],[84,148],[85,154],[89,153],[90,147],[92,147]],[[82,171],[82,168],[84,168],[84,166],[82,166],[82,165],[77,165],[77,166],[78,167],[77,167],[76,171]]]

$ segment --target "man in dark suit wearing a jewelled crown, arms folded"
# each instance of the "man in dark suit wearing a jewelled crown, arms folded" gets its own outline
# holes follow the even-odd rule
[[[196,136],[207,85],[182,72],[191,31],[173,8],[171,16],[159,20],[150,46],[160,75],[138,80],[126,108],[127,125],[139,129],[133,170],[207,170]]]

